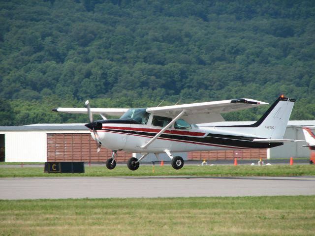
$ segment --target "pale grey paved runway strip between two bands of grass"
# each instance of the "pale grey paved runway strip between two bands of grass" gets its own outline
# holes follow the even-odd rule
[[[315,195],[315,177],[2,178],[0,199]]]

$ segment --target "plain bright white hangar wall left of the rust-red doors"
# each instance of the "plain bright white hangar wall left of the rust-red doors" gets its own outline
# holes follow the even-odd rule
[[[5,134],[6,162],[47,161],[45,132],[10,132]]]

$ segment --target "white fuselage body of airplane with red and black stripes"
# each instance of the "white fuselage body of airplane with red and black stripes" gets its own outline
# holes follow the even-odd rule
[[[152,120],[149,120],[152,121]],[[195,124],[189,127],[173,125],[158,137],[148,148],[141,148],[148,143],[162,127],[153,122],[140,124],[133,119],[100,120],[102,129],[96,130],[102,146],[112,150],[128,152],[162,153],[165,149],[172,152],[206,151],[226,149],[272,148],[283,143],[258,143],[254,134],[242,133],[237,127],[201,127]],[[149,123],[149,124],[148,124]],[[93,138],[94,133],[91,132]]]

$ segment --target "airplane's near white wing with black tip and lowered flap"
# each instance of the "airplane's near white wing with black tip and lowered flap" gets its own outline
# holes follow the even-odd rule
[[[269,103],[261,102],[248,98],[222,100],[214,102],[191,103],[174,106],[150,107],[148,113],[158,116],[177,116],[183,110],[185,114],[181,117],[191,124],[219,122],[224,121],[221,114],[240,111],[247,108],[257,107],[258,105],[268,105]]]

